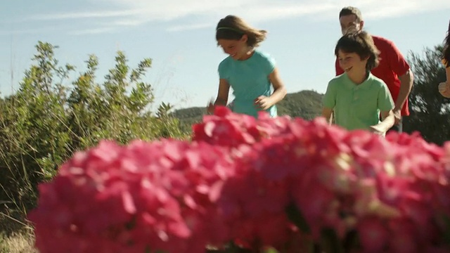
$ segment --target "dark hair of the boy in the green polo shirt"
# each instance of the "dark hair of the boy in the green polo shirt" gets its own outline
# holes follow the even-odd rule
[[[351,30],[344,34],[336,44],[335,56],[338,56],[338,51],[356,53],[361,59],[368,58],[367,71],[373,70],[380,63],[380,51],[373,43],[371,35],[365,31]]]

